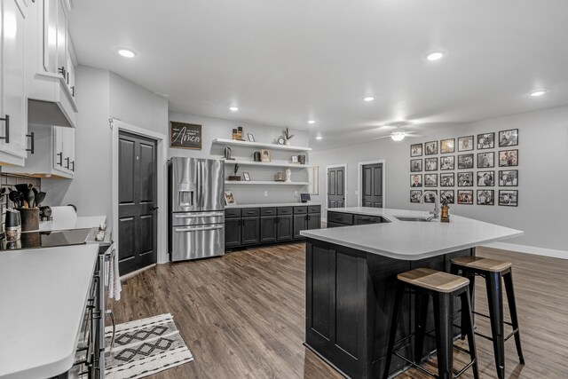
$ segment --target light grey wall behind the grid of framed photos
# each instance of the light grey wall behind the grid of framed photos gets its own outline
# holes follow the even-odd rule
[[[425,130],[421,132],[421,138],[405,138],[399,143],[390,138],[384,138],[356,146],[314,152],[311,159],[312,164],[319,165],[320,194],[312,196],[312,199],[326,203],[326,166],[347,163],[348,206],[356,206],[358,196],[355,195],[355,191],[359,181],[358,162],[384,159],[386,161],[385,207],[430,209],[431,204],[411,204],[409,201],[411,144],[477,135],[484,132],[498,133],[499,130],[515,128],[519,130],[519,146],[517,146],[519,186],[517,188],[501,187],[501,189],[518,189],[518,207],[454,204],[451,205],[450,214],[477,218],[524,231],[524,236],[507,241],[513,244],[566,251],[568,250],[568,233],[565,232],[565,225],[568,225],[568,212],[566,212],[568,205],[564,203],[564,199],[566,198],[565,190],[568,187],[568,175],[566,175],[568,172],[568,107],[556,107],[461,126]],[[495,153],[499,150],[498,147],[493,149]],[[477,154],[477,150],[473,153]],[[498,171],[500,168],[495,167],[490,170]],[[454,170],[454,172],[457,171]],[[439,189],[438,187],[438,192]],[[457,194],[458,187],[453,189]],[[464,189],[475,191],[477,187]],[[500,187],[495,186],[493,189],[497,197]],[[566,257],[568,257],[568,252],[566,252]]]

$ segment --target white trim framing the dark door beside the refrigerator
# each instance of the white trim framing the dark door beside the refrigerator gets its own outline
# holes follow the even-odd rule
[[[156,141],[156,168],[157,168],[157,198],[158,198],[158,210],[156,219],[158,220],[157,225],[157,250],[156,260],[158,264],[164,264],[169,261],[168,259],[168,219],[167,219],[167,193],[166,186],[166,167],[168,163],[168,149],[166,148],[166,143],[168,138],[165,134],[157,133],[152,130],[146,130],[139,128],[138,126],[130,125],[126,122],[111,118],[109,120],[110,129],[113,132],[113,169],[112,169],[112,192],[113,192],[113,227],[115,231],[118,231],[118,141],[119,141],[119,131],[125,131],[131,134],[135,134],[141,137],[151,138]],[[116,247],[116,254],[118,254],[118,233],[115,232],[113,235],[114,246]]]

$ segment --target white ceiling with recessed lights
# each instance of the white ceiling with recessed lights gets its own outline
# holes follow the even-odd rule
[[[168,95],[170,111],[311,130],[316,148],[397,120],[568,104],[565,0],[75,0],[69,25],[81,64]]]

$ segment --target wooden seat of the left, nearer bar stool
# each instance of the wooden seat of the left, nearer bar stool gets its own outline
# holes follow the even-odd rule
[[[398,280],[436,292],[450,293],[469,285],[469,279],[430,268],[417,268],[399,273]]]

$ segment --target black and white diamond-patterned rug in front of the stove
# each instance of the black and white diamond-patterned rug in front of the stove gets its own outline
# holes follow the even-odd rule
[[[141,378],[191,362],[193,356],[179,335],[170,313],[105,328],[105,376]]]

